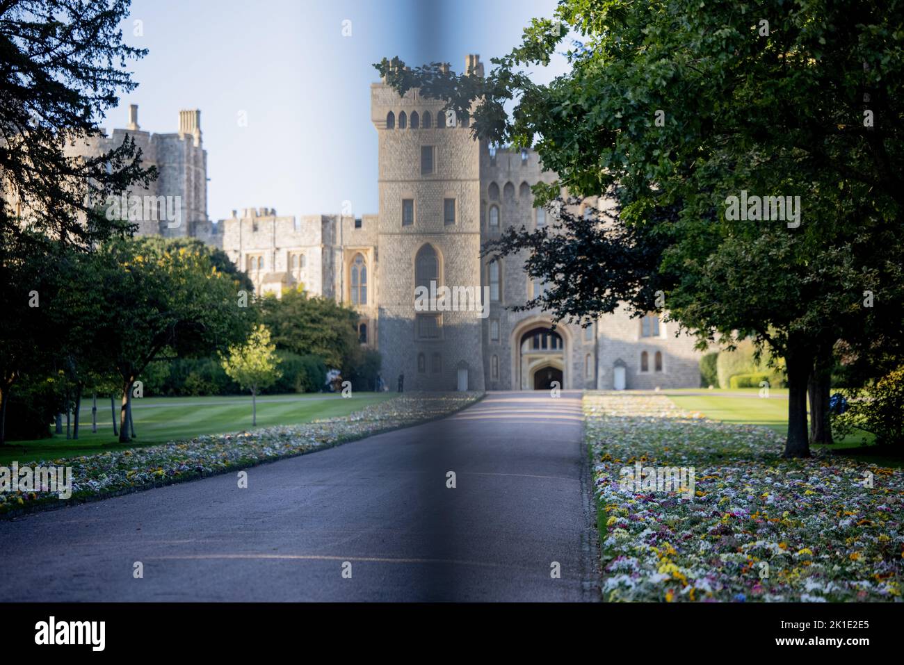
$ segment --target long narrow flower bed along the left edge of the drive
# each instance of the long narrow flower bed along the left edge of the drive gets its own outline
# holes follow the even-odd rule
[[[349,416],[250,432],[197,436],[132,450],[42,460],[35,466],[71,466],[72,496],[86,501],[135,492],[305,454],[391,429],[444,417],[480,397],[475,392],[408,393]],[[56,507],[67,501],[42,492],[0,493],[0,515]]]

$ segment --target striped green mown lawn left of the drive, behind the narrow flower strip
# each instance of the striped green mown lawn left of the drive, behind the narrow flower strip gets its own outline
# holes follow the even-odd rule
[[[267,395],[258,398],[258,427],[298,425],[315,419],[347,416],[398,393],[359,392],[350,398],[333,394]],[[91,432],[90,398],[81,408],[79,439],[66,435],[34,441],[11,441],[0,447],[0,464],[27,464],[39,459],[127,450],[194,436],[251,430],[251,398],[141,398],[135,399],[132,418],[136,438],[121,445],[113,436],[109,398],[98,400],[98,432]],[[65,430],[65,424],[63,426]]]

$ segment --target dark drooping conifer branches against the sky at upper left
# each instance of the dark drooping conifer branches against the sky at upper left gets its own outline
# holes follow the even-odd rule
[[[128,61],[146,50],[123,43],[128,0],[14,0],[0,5],[0,248],[46,234],[65,247],[89,248],[128,225],[94,214],[95,203],[147,185],[153,169],[127,138],[100,155],[69,145],[102,136],[98,125],[119,93],[137,87]],[[26,201],[34,235],[21,233],[15,199]],[[84,216],[91,223],[84,223]],[[0,263],[3,263],[0,260]]]

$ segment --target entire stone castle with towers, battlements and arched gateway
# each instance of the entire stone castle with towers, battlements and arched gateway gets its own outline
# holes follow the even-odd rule
[[[476,55],[466,71],[483,75]],[[303,287],[352,306],[362,344],[380,351],[384,379],[405,389],[508,390],[696,388],[693,340],[674,323],[625,309],[582,327],[539,309],[513,312],[543,286],[529,280],[523,257],[489,262],[482,244],[506,228],[550,223],[531,186],[552,182],[530,150],[497,149],[450,118],[443,102],[403,97],[385,82],[371,86],[371,122],[379,144],[379,211],[370,215],[280,216],[268,208],[207,217],[207,154],[201,112],[179,112],[178,131],[150,134],[129,108],[125,129],[81,151],[109,150],[131,136],[159,176],[146,197],[179,197],[179,222],[139,220],[139,234],[191,236],[222,248],[260,295]],[[162,200],[162,199],[161,199]],[[584,201],[583,206],[610,202]],[[418,286],[459,288],[480,307],[415,307]],[[471,289],[473,287],[473,289]]]

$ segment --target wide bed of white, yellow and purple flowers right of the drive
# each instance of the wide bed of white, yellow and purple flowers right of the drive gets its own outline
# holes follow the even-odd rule
[[[584,414],[607,600],[901,600],[900,470],[782,459],[784,436],[664,396],[589,394]],[[693,496],[620,484],[636,462],[691,467]]]

